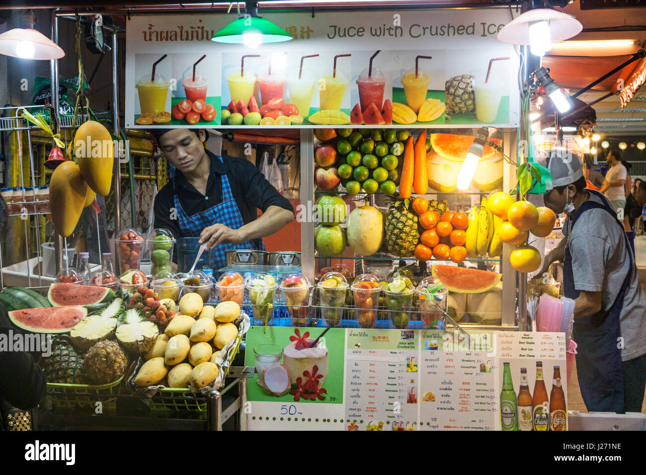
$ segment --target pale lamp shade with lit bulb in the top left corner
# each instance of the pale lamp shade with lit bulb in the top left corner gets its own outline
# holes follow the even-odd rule
[[[63,48],[34,28],[14,28],[0,34],[0,54],[25,59],[59,59]]]

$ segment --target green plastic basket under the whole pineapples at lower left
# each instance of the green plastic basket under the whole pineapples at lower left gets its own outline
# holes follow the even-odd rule
[[[52,401],[54,407],[85,407],[96,404],[101,401],[104,409],[116,408],[116,397],[110,397],[112,394],[120,393],[121,381],[123,377],[107,385],[66,385],[63,383],[47,383],[47,396]],[[51,394],[65,393],[65,394]]]

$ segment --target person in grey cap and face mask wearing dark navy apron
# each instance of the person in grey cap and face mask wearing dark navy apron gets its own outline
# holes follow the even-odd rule
[[[612,204],[586,189],[578,155],[552,151],[545,206],[566,213],[565,238],[543,270],[563,262],[565,297],[574,299],[573,339],[589,412],[641,412],[646,385],[646,299],[626,234]]]

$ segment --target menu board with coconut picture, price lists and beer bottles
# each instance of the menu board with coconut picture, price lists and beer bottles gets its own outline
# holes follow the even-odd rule
[[[312,340],[323,331],[297,330],[301,336],[308,332]],[[294,328],[269,328],[264,333],[263,327],[252,327],[245,364],[255,364],[256,346],[276,338],[289,341],[289,333],[296,336]],[[252,381],[249,401],[262,403],[255,406],[262,414],[251,411],[252,428],[501,430],[504,363],[509,363],[515,395],[521,368],[526,368],[530,394],[537,385],[537,362],[548,394],[556,383],[555,368],[562,368],[557,384],[567,405],[564,333],[469,332],[466,337],[453,330],[332,329],[324,346],[329,358],[324,397],[295,401],[292,389],[275,401]],[[337,372],[341,369],[342,375]]]

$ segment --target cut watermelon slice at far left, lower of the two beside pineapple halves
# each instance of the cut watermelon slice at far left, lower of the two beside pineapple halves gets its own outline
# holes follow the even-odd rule
[[[83,320],[83,317],[87,315],[87,308],[78,305],[68,307],[25,308],[23,310],[10,311],[8,315],[14,325],[28,332],[65,333],[69,332],[73,326]]]

